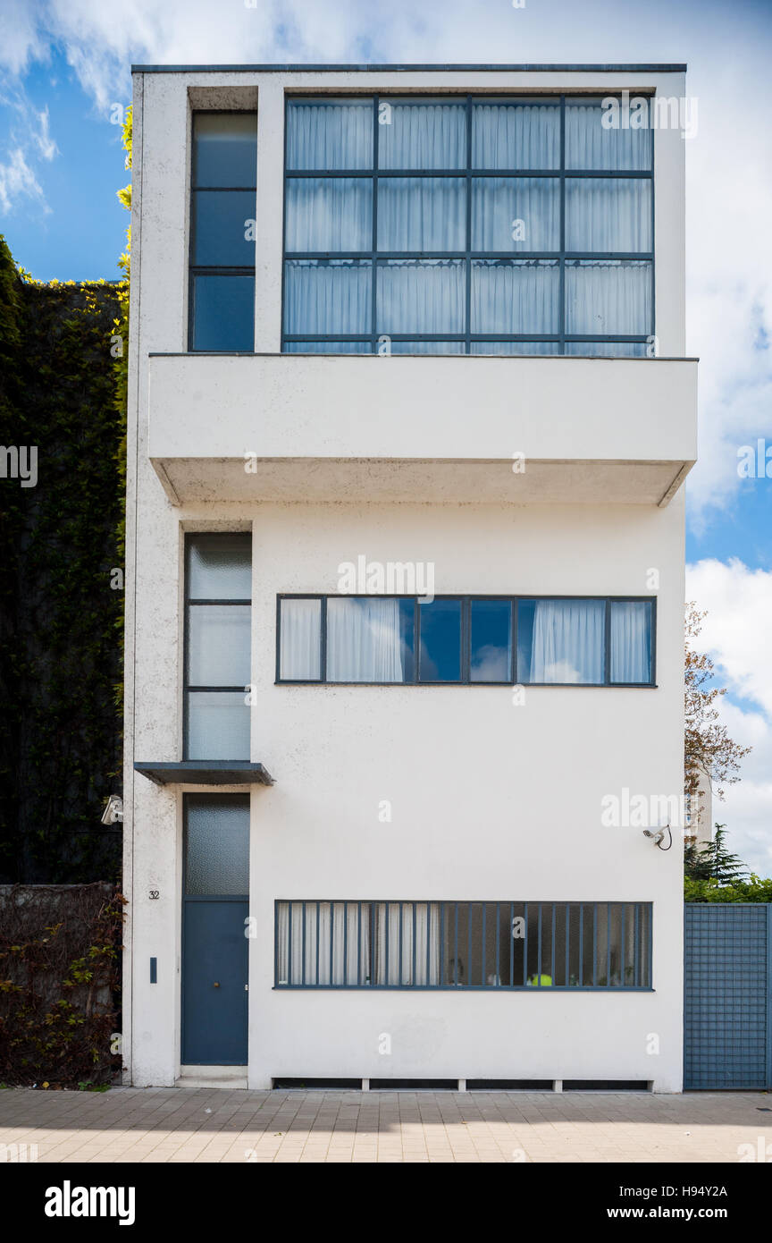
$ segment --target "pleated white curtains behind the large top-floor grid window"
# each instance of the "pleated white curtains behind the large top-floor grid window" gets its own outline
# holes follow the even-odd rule
[[[462,169],[467,158],[465,104],[390,103],[379,124],[381,169]],[[608,129],[599,102],[566,104],[566,168],[648,170],[650,131]],[[555,103],[480,101],[472,109],[472,165],[479,169],[560,167],[560,109]],[[372,167],[372,102],[293,102],[288,112],[288,168],[366,170]],[[369,177],[287,180],[287,250],[295,254],[370,252],[374,183]],[[463,250],[467,189],[462,177],[382,177],[377,181],[381,252]],[[560,240],[557,178],[475,178],[475,250],[555,250]],[[567,178],[566,246],[580,252],[647,252],[652,239],[652,184],[642,178]],[[523,220],[525,236],[513,237]],[[285,267],[285,332],[370,332],[369,264]],[[377,333],[460,334],[465,268],[459,260],[407,260],[377,267]],[[557,267],[473,265],[473,333],[552,334],[557,331]],[[645,336],[652,331],[649,262],[566,264],[566,332],[572,336]],[[295,347],[289,347],[294,349]],[[365,346],[366,348],[366,346]],[[568,347],[572,352],[573,347]],[[359,352],[355,347],[354,352]],[[330,344],[324,352],[348,352]],[[397,351],[398,352],[398,351]],[[427,347],[426,352],[434,352]],[[586,353],[593,351],[582,351]],[[595,352],[602,352],[601,349]],[[619,352],[619,351],[613,351]],[[624,352],[624,351],[622,351]]]

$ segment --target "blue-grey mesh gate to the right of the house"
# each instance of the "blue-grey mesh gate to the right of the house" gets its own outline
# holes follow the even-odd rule
[[[684,1088],[772,1089],[772,905],[684,906]]]

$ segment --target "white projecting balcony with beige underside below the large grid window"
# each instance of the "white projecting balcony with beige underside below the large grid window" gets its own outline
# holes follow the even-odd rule
[[[174,503],[667,505],[696,460],[696,360],[151,354]]]

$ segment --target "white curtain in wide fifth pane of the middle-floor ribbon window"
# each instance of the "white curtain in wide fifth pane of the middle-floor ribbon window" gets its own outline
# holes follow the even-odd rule
[[[531,682],[602,682],[603,600],[537,600]]]

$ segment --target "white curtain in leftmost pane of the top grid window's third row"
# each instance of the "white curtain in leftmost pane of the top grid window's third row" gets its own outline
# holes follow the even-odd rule
[[[340,336],[370,332],[372,265],[359,260],[288,260],[284,332]],[[330,351],[325,346],[325,353]],[[365,351],[370,351],[364,344]]]

